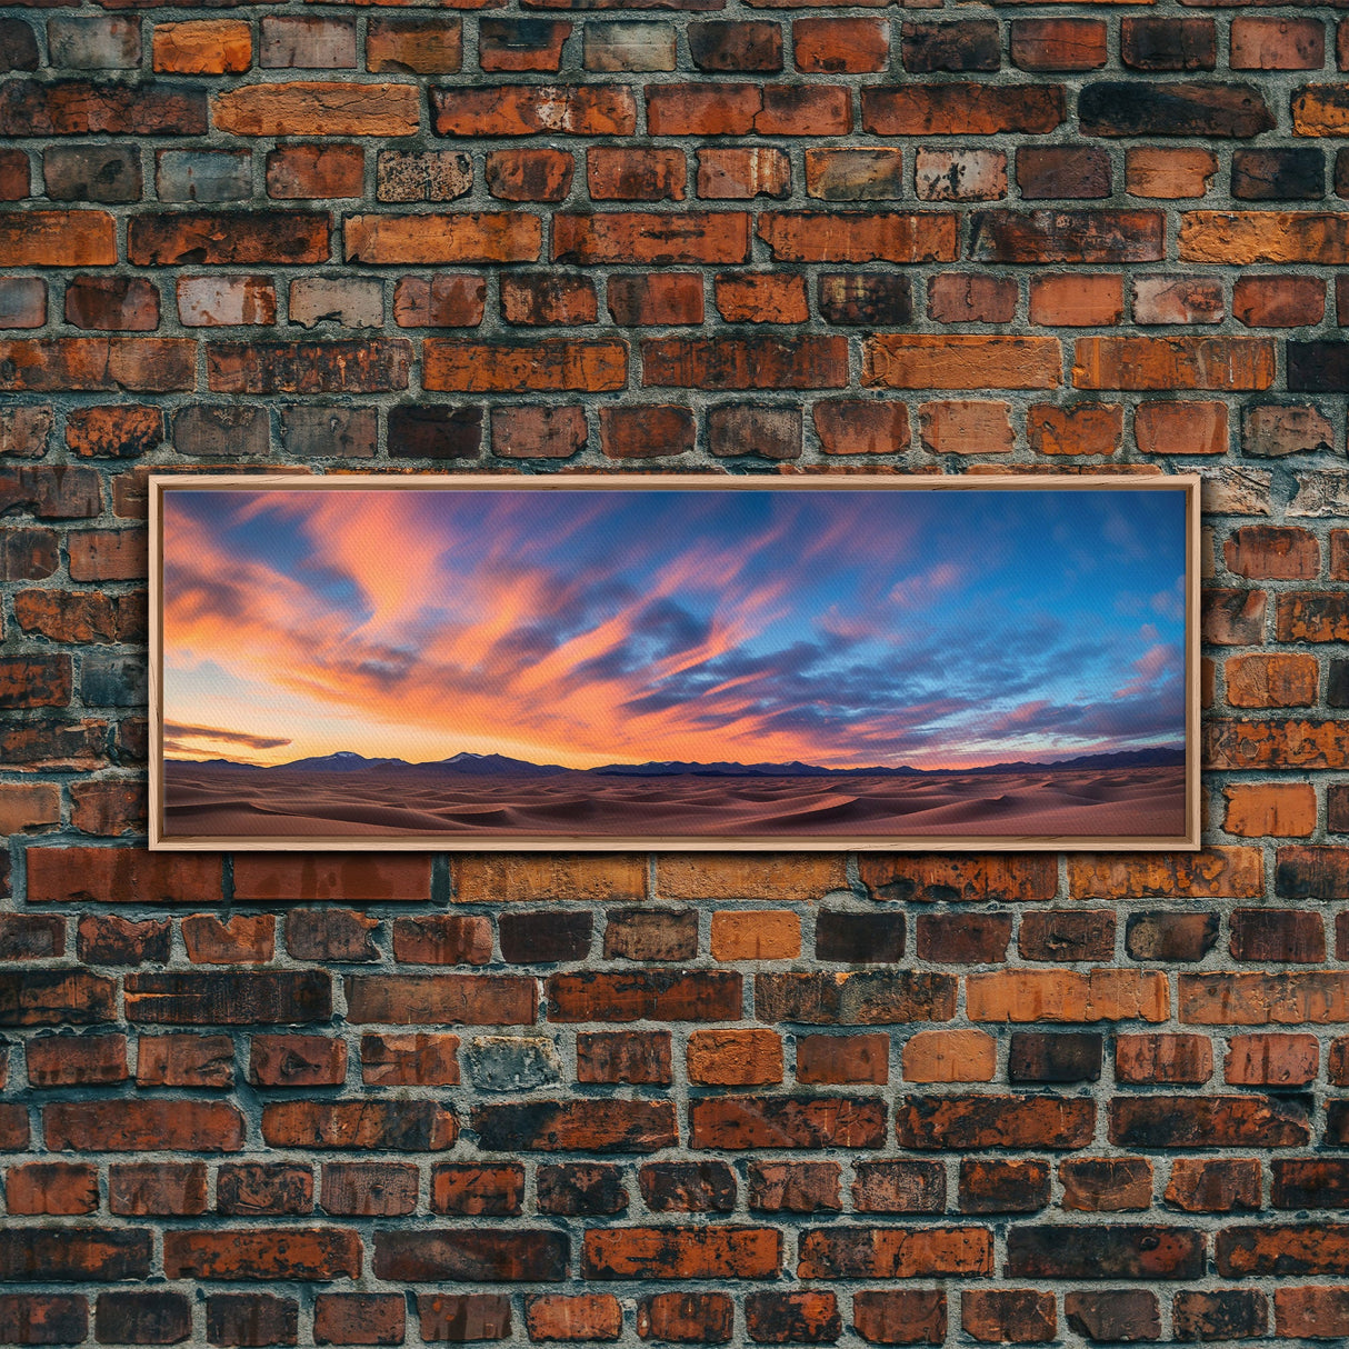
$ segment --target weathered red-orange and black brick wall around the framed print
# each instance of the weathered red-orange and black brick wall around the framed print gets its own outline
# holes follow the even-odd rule
[[[0,1344],[1349,1336],[1338,8],[5,11]],[[151,855],[221,464],[1199,471],[1205,851]]]

